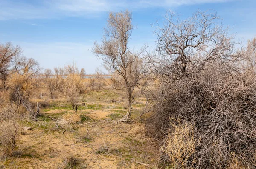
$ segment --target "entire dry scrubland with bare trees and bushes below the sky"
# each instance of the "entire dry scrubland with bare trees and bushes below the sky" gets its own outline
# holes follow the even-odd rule
[[[0,167],[254,169],[256,38],[209,11],[157,25],[154,50],[132,51],[131,12],[109,13],[92,49],[108,78],[0,44]]]

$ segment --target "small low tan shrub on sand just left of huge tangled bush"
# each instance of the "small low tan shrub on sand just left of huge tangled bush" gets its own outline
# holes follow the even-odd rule
[[[127,131],[128,136],[138,142],[145,142],[145,127],[142,124],[135,124],[130,130]]]

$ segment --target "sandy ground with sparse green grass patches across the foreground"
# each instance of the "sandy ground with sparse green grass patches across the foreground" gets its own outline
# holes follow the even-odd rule
[[[23,124],[32,125],[33,129],[22,131],[20,141],[17,143],[16,157],[2,159],[0,168],[2,165],[4,169],[64,169],[65,159],[70,156],[78,158],[86,166],[84,168],[89,169],[148,168],[138,164],[138,161],[153,166],[158,153],[156,144],[152,141],[134,141],[128,136],[127,131],[136,124],[116,124],[115,119],[110,119],[115,110],[125,110],[115,109],[114,104],[101,104],[105,108],[80,110],[79,113],[90,118],[90,123],[76,129],[68,129],[64,134],[65,129],[56,128],[55,121]],[[112,106],[113,109],[108,106]],[[42,115],[53,117],[61,113],[73,111],[56,109]],[[84,141],[84,137],[89,139]],[[102,146],[108,147],[109,152],[97,153]]]

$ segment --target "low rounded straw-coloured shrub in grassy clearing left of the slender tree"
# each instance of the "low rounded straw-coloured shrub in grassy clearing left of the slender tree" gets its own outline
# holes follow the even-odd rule
[[[73,124],[81,121],[80,114],[78,113],[67,113],[62,116],[61,119],[58,120],[58,124],[64,128],[70,128]]]

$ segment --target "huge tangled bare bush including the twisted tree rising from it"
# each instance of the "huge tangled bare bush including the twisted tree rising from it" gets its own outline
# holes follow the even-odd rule
[[[237,167],[255,168],[256,79],[253,66],[243,66],[253,61],[249,51],[235,48],[215,14],[166,19],[151,60],[159,84],[149,96],[148,134],[164,140],[176,168],[225,169],[236,159]]]

